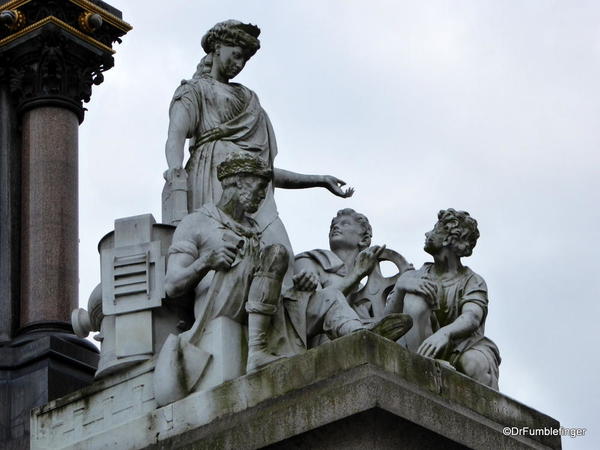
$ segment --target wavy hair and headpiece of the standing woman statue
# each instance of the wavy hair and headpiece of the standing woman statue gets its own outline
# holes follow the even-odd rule
[[[260,48],[260,28],[251,23],[243,23],[239,20],[225,20],[219,22],[202,36],[202,48],[206,56],[202,58],[196,67],[193,78],[200,78],[210,72],[212,67],[212,55],[217,43],[232,47],[241,47],[244,50],[246,60],[250,59]]]

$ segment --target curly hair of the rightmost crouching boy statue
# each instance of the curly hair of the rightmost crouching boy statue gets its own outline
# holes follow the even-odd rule
[[[448,208],[442,209],[438,213],[438,222],[448,233],[447,240],[456,255],[459,257],[471,256],[477,239],[479,239],[477,221],[466,211]]]

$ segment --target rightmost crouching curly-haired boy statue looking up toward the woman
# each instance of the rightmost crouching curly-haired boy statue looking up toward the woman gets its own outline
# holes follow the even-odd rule
[[[479,238],[477,222],[465,211],[442,210],[425,233],[433,263],[407,271],[388,298],[386,312],[403,311],[413,327],[398,342],[418,354],[450,363],[459,372],[498,389],[500,353],[484,336],[488,310],[483,278],[461,263]]]

